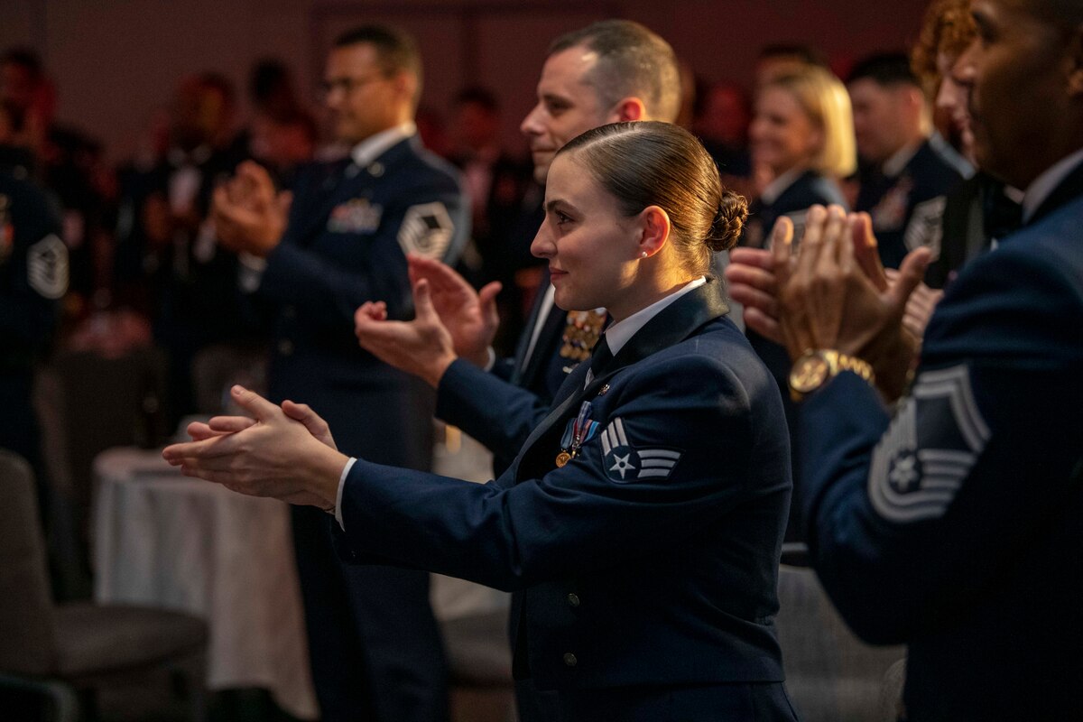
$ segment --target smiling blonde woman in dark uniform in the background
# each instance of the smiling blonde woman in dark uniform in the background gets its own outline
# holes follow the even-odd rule
[[[838,181],[857,168],[853,117],[846,87],[830,70],[810,65],[768,80],[756,99],[749,136],[753,165],[770,182],[748,209],[742,246],[766,246],[783,215],[794,222],[794,237],[800,238],[810,206],[846,207]],[[790,437],[796,438],[797,413],[786,393],[790,357],[755,331],[748,331],[748,341],[782,391]],[[793,476],[794,487],[800,488],[796,469]],[[799,516],[795,509],[787,541],[803,537]]]

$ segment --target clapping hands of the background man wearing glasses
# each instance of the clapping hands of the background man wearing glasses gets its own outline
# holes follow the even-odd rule
[[[211,219],[219,241],[235,251],[264,257],[282,240],[292,196],[276,193],[266,170],[251,160],[214,188]]]

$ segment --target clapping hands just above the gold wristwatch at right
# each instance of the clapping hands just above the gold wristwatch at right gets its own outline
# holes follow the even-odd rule
[[[903,319],[922,285],[929,249],[912,251],[889,275],[880,265],[869,214],[847,214],[839,206],[809,209],[796,253],[793,235],[793,222],[783,216],[771,232],[769,250],[730,251],[726,278],[730,294],[745,305],[745,324],[783,344],[792,360],[824,349],[869,362],[877,389],[886,401],[896,401],[905,390],[924,330],[924,321],[904,325]],[[923,287],[919,304],[929,313],[930,298]],[[917,303],[911,303],[911,316],[919,313]]]

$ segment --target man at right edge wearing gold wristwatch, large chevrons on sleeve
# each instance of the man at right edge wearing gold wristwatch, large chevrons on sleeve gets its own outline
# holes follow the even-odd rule
[[[775,258],[803,507],[843,616],[909,644],[911,722],[1079,719],[1083,4],[973,10],[978,162],[1026,189],[1023,225],[949,287],[893,418],[866,379],[888,399],[904,385],[899,319],[927,253],[877,290],[848,250],[867,219],[820,209],[796,264]]]

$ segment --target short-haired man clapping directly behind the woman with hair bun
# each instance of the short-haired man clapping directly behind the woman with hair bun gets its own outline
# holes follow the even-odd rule
[[[520,126],[530,141],[534,179],[545,183],[553,155],[576,135],[625,120],[673,122],[679,106],[676,56],[650,29],[630,21],[603,21],[563,35],[549,48],[537,104]],[[538,224],[542,219],[539,214]],[[536,226],[531,229],[532,237],[536,232]],[[545,417],[553,393],[589,355],[604,315],[557,309],[546,275],[516,357],[493,364],[493,297],[483,289],[480,300],[466,281],[452,278],[439,264],[422,262],[416,268],[433,281],[434,291],[455,289],[444,303],[439,293],[433,298],[464,357],[441,379],[436,416],[492,450],[494,473],[499,475]],[[487,326],[478,323],[480,318],[487,318]]]

